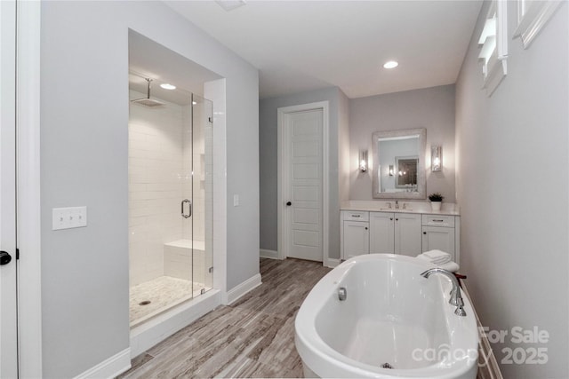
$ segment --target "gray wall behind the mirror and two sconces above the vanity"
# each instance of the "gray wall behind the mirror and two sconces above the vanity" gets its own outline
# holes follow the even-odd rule
[[[445,201],[455,201],[453,84],[350,99],[350,200],[373,200],[373,170],[367,172],[357,170],[359,150],[365,149],[370,156],[372,154],[373,132],[416,128],[427,129],[427,152],[425,152],[427,164],[430,164],[430,146],[443,146],[443,170],[441,172],[427,170],[427,194],[440,192],[445,196]]]

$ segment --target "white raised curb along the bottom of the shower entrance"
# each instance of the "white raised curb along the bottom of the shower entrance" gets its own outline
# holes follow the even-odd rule
[[[220,291],[212,289],[196,296],[188,303],[180,304],[168,312],[159,314],[139,327],[131,329],[131,357],[147,351],[156,343],[172,336],[182,328],[211,312],[220,305]]]

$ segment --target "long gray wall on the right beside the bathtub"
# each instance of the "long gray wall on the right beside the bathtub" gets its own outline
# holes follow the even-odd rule
[[[549,332],[543,344],[507,336],[510,348],[547,348],[548,363],[502,365],[504,377],[566,378],[569,6],[527,50],[511,38],[517,8],[508,7],[508,75],[487,98],[477,59],[481,17],[456,85],[461,271],[486,327]],[[502,347],[493,346],[499,362]]]

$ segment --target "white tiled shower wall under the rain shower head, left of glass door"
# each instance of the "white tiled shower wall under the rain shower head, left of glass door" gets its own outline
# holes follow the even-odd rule
[[[144,94],[131,91],[131,99]],[[191,219],[180,217],[189,183],[184,142],[189,106],[132,104],[129,117],[130,285],[164,275],[164,243],[184,237]],[[191,146],[188,145],[189,148]],[[188,186],[186,186],[188,187]],[[191,197],[189,197],[191,198]],[[188,280],[191,272],[188,272]]]

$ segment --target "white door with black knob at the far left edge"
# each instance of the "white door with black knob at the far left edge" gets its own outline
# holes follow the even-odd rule
[[[18,376],[15,2],[0,2],[0,26],[0,377],[14,378]]]

